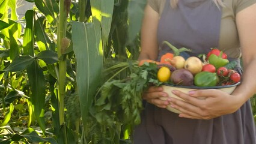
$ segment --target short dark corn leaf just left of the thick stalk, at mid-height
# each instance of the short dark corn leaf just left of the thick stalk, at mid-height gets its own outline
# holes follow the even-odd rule
[[[38,53],[35,57],[42,59],[46,64],[54,64],[55,62],[58,62],[58,54],[52,52],[52,50],[44,50]]]

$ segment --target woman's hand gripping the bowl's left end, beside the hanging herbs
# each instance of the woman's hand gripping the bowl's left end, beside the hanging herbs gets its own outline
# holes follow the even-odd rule
[[[166,108],[169,104],[168,98],[166,100],[160,100],[160,97],[168,97],[168,94],[163,92],[162,87],[150,86],[148,91],[144,92],[142,98],[148,103],[154,104],[160,108]]]

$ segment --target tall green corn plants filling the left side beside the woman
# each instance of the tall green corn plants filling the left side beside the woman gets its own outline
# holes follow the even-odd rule
[[[133,122],[94,110],[103,83],[132,68],[111,66],[138,57],[146,1],[27,1],[18,20],[17,1],[0,0],[0,143],[131,143]]]

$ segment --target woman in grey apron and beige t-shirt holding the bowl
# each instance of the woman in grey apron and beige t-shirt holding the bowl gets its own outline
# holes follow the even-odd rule
[[[242,53],[242,84],[231,95],[217,89],[172,91],[185,101],[160,100],[168,96],[163,89],[149,88],[135,144],[255,144],[249,98],[256,93],[256,0],[148,0],[139,60],[159,60],[169,51],[164,40],[192,49],[190,55],[218,47],[239,61]],[[236,70],[242,73],[240,65]],[[168,104],[181,113],[166,110]]]

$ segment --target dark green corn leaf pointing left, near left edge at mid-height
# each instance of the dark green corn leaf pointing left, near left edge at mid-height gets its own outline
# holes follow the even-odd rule
[[[11,62],[11,64],[2,71],[22,71],[29,67],[29,65],[31,65],[33,61],[34,58],[32,58],[31,56],[19,56],[13,59],[13,62]]]

